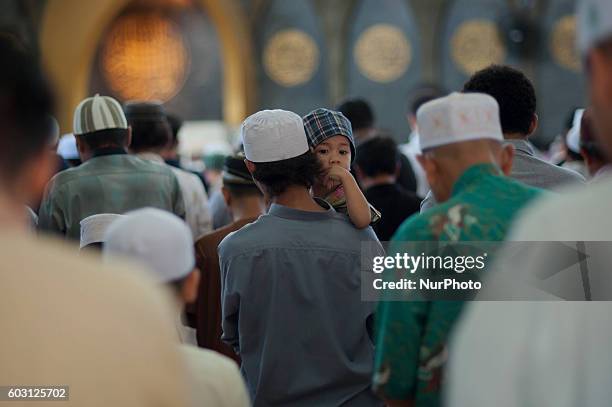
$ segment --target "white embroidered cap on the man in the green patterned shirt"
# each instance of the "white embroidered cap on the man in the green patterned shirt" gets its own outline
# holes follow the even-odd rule
[[[503,141],[497,101],[483,93],[451,93],[417,111],[421,150],[462,141]]]

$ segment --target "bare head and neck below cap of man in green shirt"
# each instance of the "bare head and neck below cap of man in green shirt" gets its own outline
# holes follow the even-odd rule
[[[429,149],[418,157],[438,202],[450,198],[453,185],[468,168],[493,164],[504,174],[512,169],[514,149],[496,140],[470,140]]]

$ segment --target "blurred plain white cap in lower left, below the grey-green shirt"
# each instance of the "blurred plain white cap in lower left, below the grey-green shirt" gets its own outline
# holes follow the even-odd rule
[[[125,213],[104,235],[105,260],[124,257],[138,261],[160,283],[186,277],[195,266],[193,237],[178,216],[157,208]]]

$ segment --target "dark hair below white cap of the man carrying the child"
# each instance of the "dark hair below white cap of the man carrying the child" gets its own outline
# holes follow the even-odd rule
[[[253,178],[270,196],[278,196],[291,185],[310,188],[323,175],[323,167],[311,151],[282,161],[255,163]]]

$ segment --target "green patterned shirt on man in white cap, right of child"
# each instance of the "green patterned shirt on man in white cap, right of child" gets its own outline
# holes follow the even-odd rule
[[[395,242],[502,241],[517,212],[540,191],[490,164],[468,168],[451,198],[406,220]],[[391,244],[395,255],[400,244]],[[440,405],[446,340],[462,301],[382,301],[377,312],[374,388],[386,399]]]

